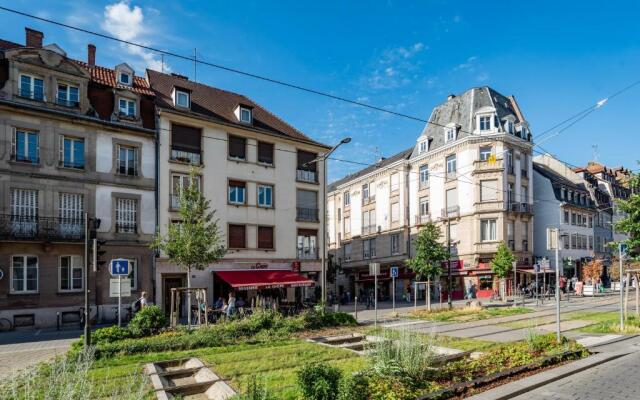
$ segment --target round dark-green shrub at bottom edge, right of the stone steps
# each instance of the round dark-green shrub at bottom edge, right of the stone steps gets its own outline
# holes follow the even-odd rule
[[[342,372],[326,364],[310,364],[298,371],[298,385],[305,400],[335,400]]]

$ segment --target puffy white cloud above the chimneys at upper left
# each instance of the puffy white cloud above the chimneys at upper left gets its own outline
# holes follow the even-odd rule
[[[149,27],[151,24],[145,23],[144,13],[139,6],[133,6],[128,1],[121,0],[105,6],[103,18],[102,29],[112,36],[144,46],[151,45],[148,38],[153,36],[154,32]],[[121,43],[121,48],[132,56],[127,61],[137,70],[163,68],[160,56],[154,52],[125,43]],[[164,70],[170,70],[166,63]]]

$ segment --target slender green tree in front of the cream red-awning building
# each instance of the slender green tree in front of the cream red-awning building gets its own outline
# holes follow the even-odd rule
[[[221,259],[226,250],[215,211],[199,189],[197,171],[191,169],[189,184],[179,188],[180,222],[167,225],[167,234],[159,231],[151,248],[161,251],[180,268],[187,271],[187,288],[191,288],[191,270],[205,269]],[[187,294],[187,323],[191,327],[191,293]]]

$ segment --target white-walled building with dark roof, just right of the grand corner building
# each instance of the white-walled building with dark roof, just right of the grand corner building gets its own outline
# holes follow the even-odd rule
[[[549,155],[536,156],[533,169],[536,188],[535,256],[546,258],[552,266],[555,265],[555,251],[548,250],[547,230],[559,229],[558,265],[565,276],[581,279],[582,267],[595,255],[594,226],[598,216],[602,215],[591,197],[589,183]]]

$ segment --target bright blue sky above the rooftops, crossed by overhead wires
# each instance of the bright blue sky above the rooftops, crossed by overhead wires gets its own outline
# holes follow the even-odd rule
[[[640,79],[635,1],[32,1],[0,2],[122,39],[357,99],[427,119],[449,93],[489,85],[513,94],[534,138]],[[142,74],[157,54],[0,12],[3,38],[24,26],[71,57],[128,62]],[[164,65],[193,79],[193,64]],[[197,80],[252,97],[313,138],[353,141],[336,157],[365,163],[412,146],[423,124],[214,70]],[[637,168],[640,86],[543,144],[557,157]],[[333,161],[330,179],[359,169]]]

